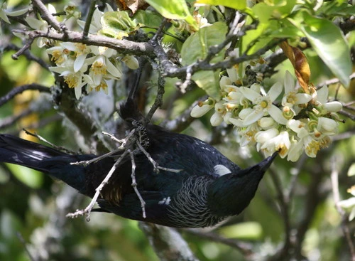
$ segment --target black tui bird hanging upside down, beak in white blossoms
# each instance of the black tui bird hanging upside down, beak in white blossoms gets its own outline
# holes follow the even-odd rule
[[[157,172],[146,154],[136,149],[136,188],[146,203],[146,218],[131,186],[130,156],[120,162],[102,189],[97,199],[101,211],[175,228],[208,227],[241,213],[255,195],[277,152],[255,166],[241,169],[200,139],[144,123],[133,99],[135,92],[131,90],[128,100],[121,105],[121,117],[131,128],[137,128],[138,124],[137,139],[141,139],[143,148],[159,166],[180,171],[160,169]],[[0,134],[0,162],[42,171],[91,198],[118,156],[107,156],[87,166],[72,165],[97,156],[67,154]]]

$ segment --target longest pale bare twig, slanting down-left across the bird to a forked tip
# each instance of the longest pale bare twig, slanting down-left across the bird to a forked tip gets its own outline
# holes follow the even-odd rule
[[[68,213],[67,218],[77,218],[82,215],[86,215],[86,220],[90,220],[90,213],[92,211],[92,208],[94,208],[94,205],[97,201],[97,198],[100,196],[100,192],[102,191],[102,188],[109,182],[109,179],[111,178],[112,174],[114,174],[114,171],[116,171],[116,167],[121,163],[122,159],[129,154],[129,150],[124,151],[123,154],[117,159],[117,161],[114,163],[114,166],[110,169],[109,173],[105,177],[105,179],[100,183],[100,185],[95,189],[95,194],[92,197],[92,201],[90,201],[89,205],[84,209],[84,210],[79,210],[75,211],[75,213]]]

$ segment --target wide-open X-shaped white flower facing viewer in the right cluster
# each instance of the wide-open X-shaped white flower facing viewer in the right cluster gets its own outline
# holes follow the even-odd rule
[[[252,88],[240,87],[241,93],[243,93],[243,95],[255,105],[253,107],[253,112],[244,119],[244,124],[249,125],[256,122],[267,114],[270,114],[270,116],[275,119],[275,122],[286,124],[287,120],[283,117],[283,112],[273,105],[273,102],[280,95],[282,89],[283,86],[280,82],[276,82],[270,88],[267,95],[261,95]]]

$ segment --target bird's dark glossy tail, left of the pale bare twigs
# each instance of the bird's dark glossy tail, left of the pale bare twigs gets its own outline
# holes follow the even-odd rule
[[[10,134],[0,134],[0,162],[26,166],[64,181],[80,193],[87,194],[84,166],[70,163],[92,159],[93,155],[70,155],[57,149]]]

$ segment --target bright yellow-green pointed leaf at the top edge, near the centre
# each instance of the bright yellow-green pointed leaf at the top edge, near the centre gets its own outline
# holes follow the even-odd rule
[[[184,19],[197,30],[197,22],[190,14],[185,0],[146,0],[146,2],[165,18]]]

